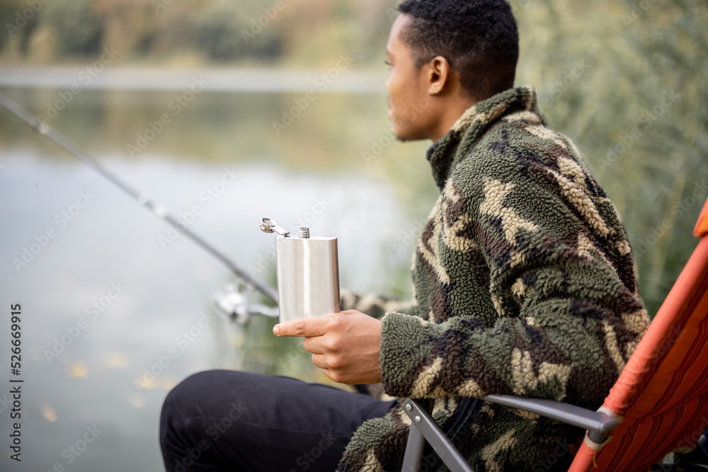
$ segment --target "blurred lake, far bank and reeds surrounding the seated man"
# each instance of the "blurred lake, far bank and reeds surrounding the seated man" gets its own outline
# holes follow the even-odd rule
[[[253,277],[275,286],[271,217],[338,236],[343,288],[407,298],[438,190],[430,143],[395,142],[387,120],[395,4],[0,0],[0,91]],[[653,316],[708,196],[708,6],[511,4],[517,84],[615,202]],[[21,304],[25,380],[17,463],[0,376],[3,471],[162,470],[161,403],[202,369],[326,382],[271,318],[215,308],[226,268],[4,109],[0,221],[0,349]]]

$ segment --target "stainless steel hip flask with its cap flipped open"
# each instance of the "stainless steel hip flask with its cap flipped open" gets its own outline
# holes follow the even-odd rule
[[[339,310],[337,238],[310,237],[308,228],[290,236],[270,218],[261,230],[275,237],[280,321],[312,318]]]

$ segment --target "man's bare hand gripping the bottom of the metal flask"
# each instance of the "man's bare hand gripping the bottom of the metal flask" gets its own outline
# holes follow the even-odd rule
[[[381,381],[381,321],[356,310],[273,326],[276,336],[302,336],[312,364],[340,384]]]

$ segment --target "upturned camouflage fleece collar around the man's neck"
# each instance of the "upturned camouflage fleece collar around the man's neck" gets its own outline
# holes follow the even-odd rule
[[[537,107],[537,93],[532,86],[510,88],[487,98],[462,113],[445,136],[428,149],[428,161],[433,168],[433,178],[440,190],[445,186],[452,169],[474,146],[492,125],[506,115],[518,112],[531,112],[538,115],[542,125],[546,119]]]

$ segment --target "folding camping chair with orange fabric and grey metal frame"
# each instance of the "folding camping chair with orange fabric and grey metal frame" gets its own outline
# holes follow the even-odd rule
[[[700,243],[597,412],[552,400],[484,397],[586,430],[569,472],[646,471],[670,452],[685,453],[696,444],[707,451],[708,200],[694,234]],[[415,427],[403,472],[420,470],[426,441],[450,471],[472,472],[422,401],[408,398],[404,410]],[[661,470],[689,470],[685,456],[678,456]]]

